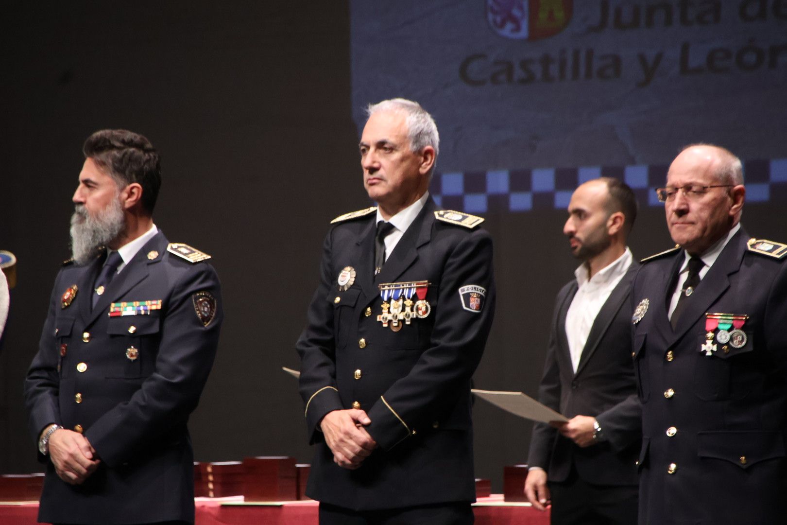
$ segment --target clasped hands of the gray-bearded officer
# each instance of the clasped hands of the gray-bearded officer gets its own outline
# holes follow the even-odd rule
[[[65,428],[50,436],[49,454],[57,477],[70,485],[82,484],[101,463],[85,436]]]

